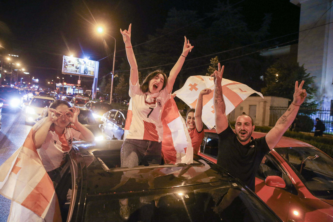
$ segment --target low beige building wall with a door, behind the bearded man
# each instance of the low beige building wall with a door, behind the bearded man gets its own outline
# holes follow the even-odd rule
[[[269,107],[288,107],[288,101],[289,99],[282,97],[265,96],[264,99],[262,99],[259,96],[250,96],[239,104],[227,117],[229,121],[236,121],[236,118],[241,115],[242,112],[245,112],[253,118],[255,125],[268,126]],[[254,115],[250,113],[251,106],[256,106]]]

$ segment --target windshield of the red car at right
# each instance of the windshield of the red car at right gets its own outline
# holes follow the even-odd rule
[[[314,147],[274,148],[316,197],[333,199],[333,159]]]

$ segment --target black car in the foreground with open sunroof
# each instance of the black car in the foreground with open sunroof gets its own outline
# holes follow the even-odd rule
[[[122,140],[76,141],[54,182],[63,221],[281,222],[252,191],[221,167],[203,159],[192,164],[120,167]],[[238,196],[221,214],[213,209],[229,189]],[[241,205],[242,209],[235,209]],[[242,211],[243,210],[243,211]],[[240,219],[242,218],[242,219]]]

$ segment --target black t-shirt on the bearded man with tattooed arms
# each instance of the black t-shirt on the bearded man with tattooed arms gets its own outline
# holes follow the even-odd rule
[[[255,174],[262,158],[269,152],[265,136],[242,145],[228,126],[218,134],[217,164],[228,170],[254,191]]]

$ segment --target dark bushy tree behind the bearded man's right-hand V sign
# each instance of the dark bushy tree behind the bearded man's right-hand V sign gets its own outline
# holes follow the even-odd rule
[[[312,101],[317,89],[311,87],[315,77],[306,73],[304,66],[290,59],[282,59],[271,65],[265,73],[266,87],[261,89],[264,96],[277,96],[293,100],[295,82],[304,80],[303,89],[306,89],[307,97],[302,107],[317,108],[319,103]]]

